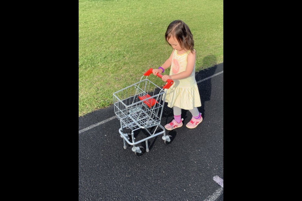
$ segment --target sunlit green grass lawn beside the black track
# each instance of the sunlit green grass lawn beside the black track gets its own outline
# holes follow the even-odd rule
[[[223,62],[223,0],[79,0],[79,117],[165,62],[165,31],[176,19],[193,33],[196,71]]]

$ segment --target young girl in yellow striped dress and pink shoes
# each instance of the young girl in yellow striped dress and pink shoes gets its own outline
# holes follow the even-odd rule
[[[171,66],[170,74],[163,75],[162,80],[174,81],[169,89],[165,89],[165,102],[168,107],[173,107],[174,119],[165,125],[167,130],[182,127],[182,109],[189,110],[192,119],[187,123],[187,128],[196,128],[202,122],[201,113],[197,107],[201,106],[198,86],[195,80],[196,51],[194,49],[193,35],[182,20],[171,22],[165,33],[166,41],[173,51],[170,57],[152,73],[164,73]]]

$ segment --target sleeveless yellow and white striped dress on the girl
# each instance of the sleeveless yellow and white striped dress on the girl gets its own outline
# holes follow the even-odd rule
[[[170,76],[181,73],[187,68],[187,56],[190,50],[183,54],[177,54],[174,51],[172,57],[172,64],[170,69]],[[196,64],[196,63],[195,63]],[[174,83],[166,91],[166,100],[168,107],[177,106],[185,110],[191,110],[194,107],[200,107],[200,95],[195,80],[195,64],[191,75],[184,79],[175,79]]]

